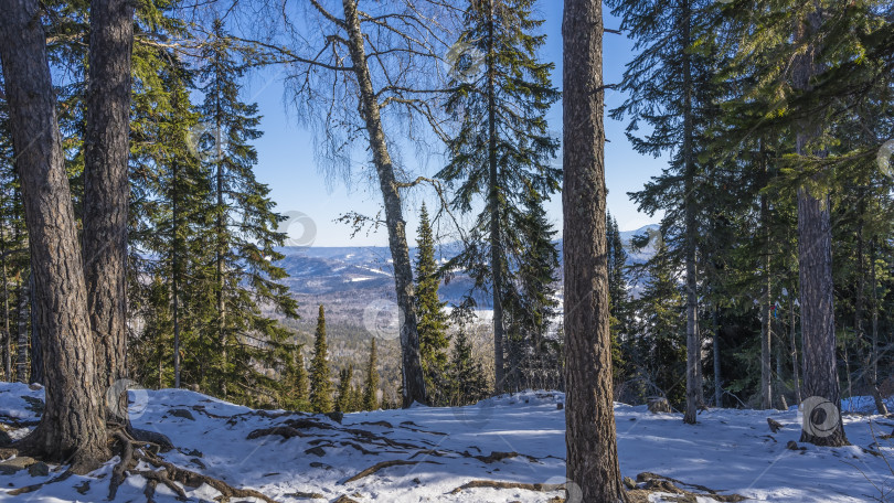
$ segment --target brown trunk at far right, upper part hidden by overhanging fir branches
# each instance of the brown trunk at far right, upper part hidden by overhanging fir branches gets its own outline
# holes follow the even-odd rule
[[[798,26],[796,40],[813,38],[822,23],[822,13],[808,14]],[[796,56],[792,84],[810,92],[810,79],[817,75],[818,53],[815,42]],[[818,127],[805,119],[797,135],[799,156],[812,152],[810,141]],[[817,446],[844,446],[848,438],[841,421],[841,395],[836,368],[836,314],[832,280],[832,225],[828,192],[798,189],[798,266],[801,292],[801,338],[803,340],[803,431],[801,441]],[[809,403],[807,400],[810,400]]]

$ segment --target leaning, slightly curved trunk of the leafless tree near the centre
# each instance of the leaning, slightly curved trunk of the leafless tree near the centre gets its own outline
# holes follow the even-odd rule
[[[409,261],[409,247],[406,244],[406,222],[401,206],[401,193],[394,175],[394,165],[389,153],[385,131],[382,127],[380,105],[376,101],[372,76],[366,63],[366,49],[360,28],[356,0],[342,0],[344,21],[348,30],[348,45],[351,62],[360,92],[360,110],[366,122],[373,164],[379,174],[379,184],[385,204],[385,223],[389,228],[389,247],[394,266],[394,286],[401,320],[401,352],[403,371],[403,405],[414,402],[426,404],[425,379],[419,356],[419,331],[416,327],[416,307],[413,301],[413,266]]]

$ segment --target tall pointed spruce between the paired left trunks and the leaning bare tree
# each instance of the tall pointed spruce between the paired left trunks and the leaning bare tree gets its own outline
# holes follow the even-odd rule
[[[274,212],[269,188],[258,183],[254,173],[257,152],[251,141],[262,135],[256,129],[257,105],[240,100],[245,66],[236,60],[221,20],[214,20],[201,55],[204,64],[196,79],[204,101],[198,107],[193,141],[211,176],[207,238],[214,254],[212,325],[216,332],[205,345],[205,375],[215,379],[207,388],[226,397],[227,384],[232,387],[243,379],[253,361],[275,365],[275,352],[252,351],[252,345],[243,343],[246,338],[275,346],[288,336],[279,323],[262,313],[260,306],[273,307],[287,319],[298,314],[288,287],[278,282],[286,272],[274,265],[284,257],[275,250],[285,239],[277,231],[284,217]]]

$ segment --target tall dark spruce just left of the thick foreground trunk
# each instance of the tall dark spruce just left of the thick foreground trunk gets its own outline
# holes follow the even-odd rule
[[[469,2],[459,38],[468,54],[457,61],[455,90],[446,105],[461,125],[448,141],[450,161],[438,173],[449,185],[458,185],[455,207],[471,212],[483,203],[454,264],[465,266],[478,288],[490,289],[496,393],[501,393],[505,378],[504,299],[515,296],[510,261],[528,245],[519,243],[512,229],[519,225],[529,186],[549,196],[558,190],[561,179],[561,170],[550,164],[558,142],[545,120],[558,92],[550,82],[554,65],[536,58],[545,39],[533,34],[543,24],[532,19],[533,4],[533,0]],[[476,75],[477,54],[482,68]]]

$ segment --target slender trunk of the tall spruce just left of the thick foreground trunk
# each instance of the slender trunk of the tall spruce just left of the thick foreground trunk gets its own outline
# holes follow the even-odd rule
[[[493,2],[488,2],[488,210],[490,212],[490,265],[493,269],[493,392],[501,394],[505,381],[503,363],[503,247],[500,239],[500,182],[497,165],[497,85],[494,72],[497,57],[493,46]],[[513,371],[514,371],[513,366]]]

